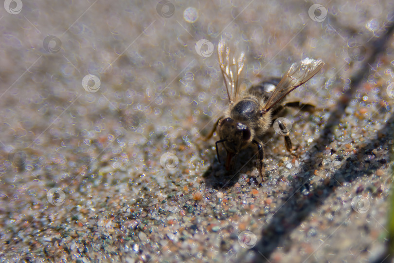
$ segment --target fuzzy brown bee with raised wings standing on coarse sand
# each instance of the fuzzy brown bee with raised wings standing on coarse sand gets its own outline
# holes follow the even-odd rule
[[[217,159],[220,163],[218,144],[222,143],[227,151],[225,164],[227,170],[230,168],[233,156],[251,144],[256,145],[259,161],[258,169],[262,180],[264,180],[263,136],[275,122],[281,131],[280,133],[285,137],[287,150],[293,153],[292,143],[288,135],[289,129],[286,127],[283,118],[278,118],[278,113],[286,107],[299,107],[307,111],[311,111],[314,108],[310,104],[302,104],[301,102],[282,104],[279,102],[287,94],[316,75],[322,69],[324,63],[320,59],[304,58],[298,63],[293,63],[281,79],[262,82],[259,85],[251,86],[248,92],[241,93],[238,82],[244,66],[245,54],[241,53],[238,59],[235,57],[230,58],[230,48],[225,47],[224,42],[219,42],[217,52],[220,70],[229,98],[229,108],[216,121],[213,130],[207,135],[206,139],[212,137],[217,130],[220,137],[220,140],[215,143]],[[225,59],[223,59],[224,53]]]

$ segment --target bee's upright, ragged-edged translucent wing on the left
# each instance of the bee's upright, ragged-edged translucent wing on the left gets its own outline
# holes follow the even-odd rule
[[[225,59],[223,59],[225,54]],[[239,93],[238,76],[244,67],[245,53],[242,52],[238,59],[234,56],[230,57],[230,48],[222,41],[217,45],[217,56],[219,57],[220,70],[223,75],[224,84],[226,85],[227,95],[229,96],[229,103],[237,100]]]

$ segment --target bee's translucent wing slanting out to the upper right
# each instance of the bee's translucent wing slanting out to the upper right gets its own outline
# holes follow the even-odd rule
[[[272,106],[278,103],[287,94],[316,75],[323,65],[324,62],[321,59],[316,60],[308,57],[298,63],[293,63],[286,75],[281,79],[275,90],[269,96],[263,110],[268,112]]]

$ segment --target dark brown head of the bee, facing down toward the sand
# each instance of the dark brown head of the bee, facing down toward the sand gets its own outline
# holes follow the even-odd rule
[[[228,152],[238,153],[251,141],[251,130],[241,122],[236,122],[232,118],[222,119],[218,124],[218,133]]]

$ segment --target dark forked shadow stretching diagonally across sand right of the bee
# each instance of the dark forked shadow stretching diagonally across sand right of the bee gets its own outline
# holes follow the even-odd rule
[[[317,146],[314,151],[322,152],[325,150],[325,146],[329,145],[333,141],[331,139],[332,129],[339,124],[341,116],[351,100],[350,98],[354,97],[359,84],[368,76],[370,71],[369,65],[373,64],[378,56],[384,53],[385,47],[390,44],[390,38],[392,37],[393,30],[394,24],[391,21],[390,25],[387,27],[386,33],[382,37],[376,39],[370,44],[365,44],[366,49],[370,52],[370,56],[365,59],[362,68],[352,76],[349,89],[345,91],[339,99],[342,103],[337,104],[337,108],[331,112],[331,115],[321,133],[321,137],[316,140]],[[384,128],[377,132],[380,134],[388,133],[390,136],[383,136],[380,138],[377,136],[374,140],[368,140],[366,142],[367,146],[358,149],[357,153],[347,157],[346,162],[344,162],[342,167],[333,174],[329,183],[322,184],[318,186],[318,188],[311,190],[307,195],[307,198],[301,192],[301,188],[305,186],[305,184],[309,185],[308,182],[313,176],[313,172],[310,172],[309,175],[307,175],[306,178],[302,178],[302,180],[294,180],[289,186],[289,189],[294,190],[291,190],[287,196],[283,198],[284,205],[282,205],[282,207],[280,207],[272,216],[270,223],[263,227],[262,239],[253,247],[253,250],[256,252],[253,262],[267,262],[271,253],[278,246],[286,246],[287,240],[289,240],[289,235],[292,231],[298,227],[312,211],[315,211],[320,207],[324,200],[326,200],[326,198],[335,191],[336,187],[340,186],[336,179],[337,177],[344,178],[344,182],[351,182],[363,174],[372,174],[384,165],[384,162],[380,161],[371,162],[368,169],[365,169],[364,166],[362,166],[356,171],[353,170],[348,176],[344,176],[346,174],[346,169],[349,169],[351,163],[358,160],[359,156],[357,155],[364,157],[371,154],[371,151],[377,146],[387,144],[388,140],[393,138],[394,129],[392,127],[392,123],[394,123],[393,115],[387,121]],[[373,137],[376,134],[370,135]],[[311,165],[314,165],[317,162],[318,158],[316,156],[311,156],[309,160],[304,162],[300,170],[307,170]]]

